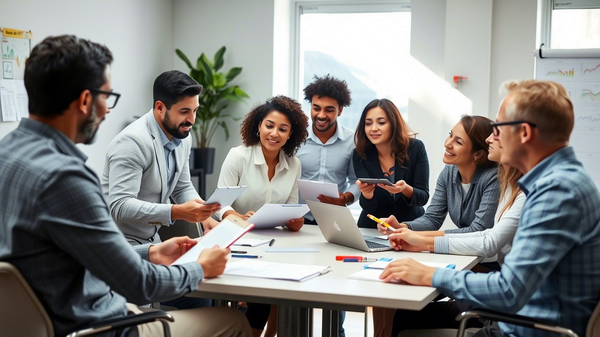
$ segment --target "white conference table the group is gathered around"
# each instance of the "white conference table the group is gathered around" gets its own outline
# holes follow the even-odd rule
[[[364,235],[380,235],[375,229],[361,228],[361,232]],[[421,310],[440,294],[432,287],[349,279],[347,275],[362,270],[365,263],[336,261],[336,255],[413,258],[417,261],[455,264],[458,270],[470,269],[481,261],[480,257],[467,255],[359,251],[327,242],[316,225],[304,225],[296,232],[281,227],[251,230],[244,235],[244,239],[275,239],[273,247],[311,247],[319,252],[263,251],[262,248],[268,245],[232,246],[232,250],[247,251],[249,255],[262,255],[263,261],[332,267],[330,272],[304,282],[221,275],[203,280],[199,283],[198,290],[187,295],[278,305],[279,336],[309,335],[311,332],[308,331],[308,308],[323,308],[323,336],[329,336],[328,332],[337,336],[337,311],[364,312],[366,306]],[[236,260],[241,258],[230,258],[229,262]]]

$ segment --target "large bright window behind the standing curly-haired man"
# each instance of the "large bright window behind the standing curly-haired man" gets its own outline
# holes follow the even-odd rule
[[[315,75],[331,74],[352,91],[352,104],[338,118],[341,125],[356,129],[362,110],[375,98],[388,98],[407,119],[407,84],[389,78],[389,70],[410,56],[410,2],[298,2],[295,20],[292,92],[305,112],[310,112],[305,86]],[[358,202],[350,209],[358,218]]]

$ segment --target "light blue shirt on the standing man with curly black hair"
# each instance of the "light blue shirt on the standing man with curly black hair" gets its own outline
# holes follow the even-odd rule
[[[302,163],[301,179],[336,183],[338,191],[351,192],[357,201],[360,191],[352,164],[354,148],[354,131],[349,128],[338,123],[335,134],[323,144],[314,134],[313,125],[309,125],[306,144],[296,153]],[[314,219],[310,212],[304,217]]]

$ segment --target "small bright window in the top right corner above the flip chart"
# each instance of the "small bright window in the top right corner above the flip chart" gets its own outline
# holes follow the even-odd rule
[[[600,2],[598,0],[545,0],[542,20],[544,42],[552,49],[600,48]],[[548,31],[549,30],[549,31]],[[543,38],[542,38],[543,39]]]

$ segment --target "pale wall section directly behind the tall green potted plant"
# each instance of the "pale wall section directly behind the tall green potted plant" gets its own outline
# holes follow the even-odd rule
[[[243,117],[254,103],[271,97],[273,83],[273,0],[175,0],[173,41],[194,62],[200,53],[209,58],[226,46],[224,70],[242,67],[236,78],[250,95],[247,103],[230,104],[229,113]],[[175,68],[188,72],[187,66],[175,58]],[[206,192],[217,186],[221,164],[230,148],[241,145],[239,124],[228,121],[230,138],[218,131],[211,146],[217,148],[215,173],[206,176]]]

